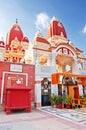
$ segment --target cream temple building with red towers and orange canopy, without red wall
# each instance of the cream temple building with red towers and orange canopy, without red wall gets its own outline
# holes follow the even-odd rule
[[[65,27],[56,17],[51,19],[46,37],[38,30],[33,41],[29,41],[16,21],[7,33],[6,42],[0,40],[0,60],[3,63],[35,66],[33,104],[36,107],[50,105],[50,95],[61,94],[63,90],[73,98],[75,93],[77,98],[86,94],[86,57],[82,50],[68,40]],[[29,76],[33,77],[31,71]],[[2,80],[0,82],[2,84]],[[27,82],[33,83],[32,80]],[[4,98],[2,86],[1,103]]]

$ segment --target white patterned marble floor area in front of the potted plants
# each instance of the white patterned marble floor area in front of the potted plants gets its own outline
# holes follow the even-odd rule
[[[63,118],[65,120],[74,121],[79,124],[86,126],[86,108],[84,111],[81,108],[77,109],[57,109],[49,107],[42,107],[43,111],[48,112],[54,116]]]

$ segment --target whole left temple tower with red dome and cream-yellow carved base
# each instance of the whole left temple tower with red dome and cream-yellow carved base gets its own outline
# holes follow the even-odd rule
[[[16,23],[11,27],[6,37],[6,53],[4,59],[9,62],[24,60],[25,51],[28,49],[29,40],[24,36],[20,26]]]

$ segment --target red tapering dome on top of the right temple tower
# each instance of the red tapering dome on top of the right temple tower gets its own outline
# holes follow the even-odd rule
[[[46,38],[49,39],[52,36],[59,36],[67,39],[66,31],[63,24],[53,17],[47,30]]]

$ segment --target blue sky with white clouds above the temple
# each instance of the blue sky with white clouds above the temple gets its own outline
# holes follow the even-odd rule
[[[46,37],[53,16],[63,23],[68,40],[86,56],[86,0],[0,0],[0,39],[5,41],[16,19],[29,41],[38,30]]]

